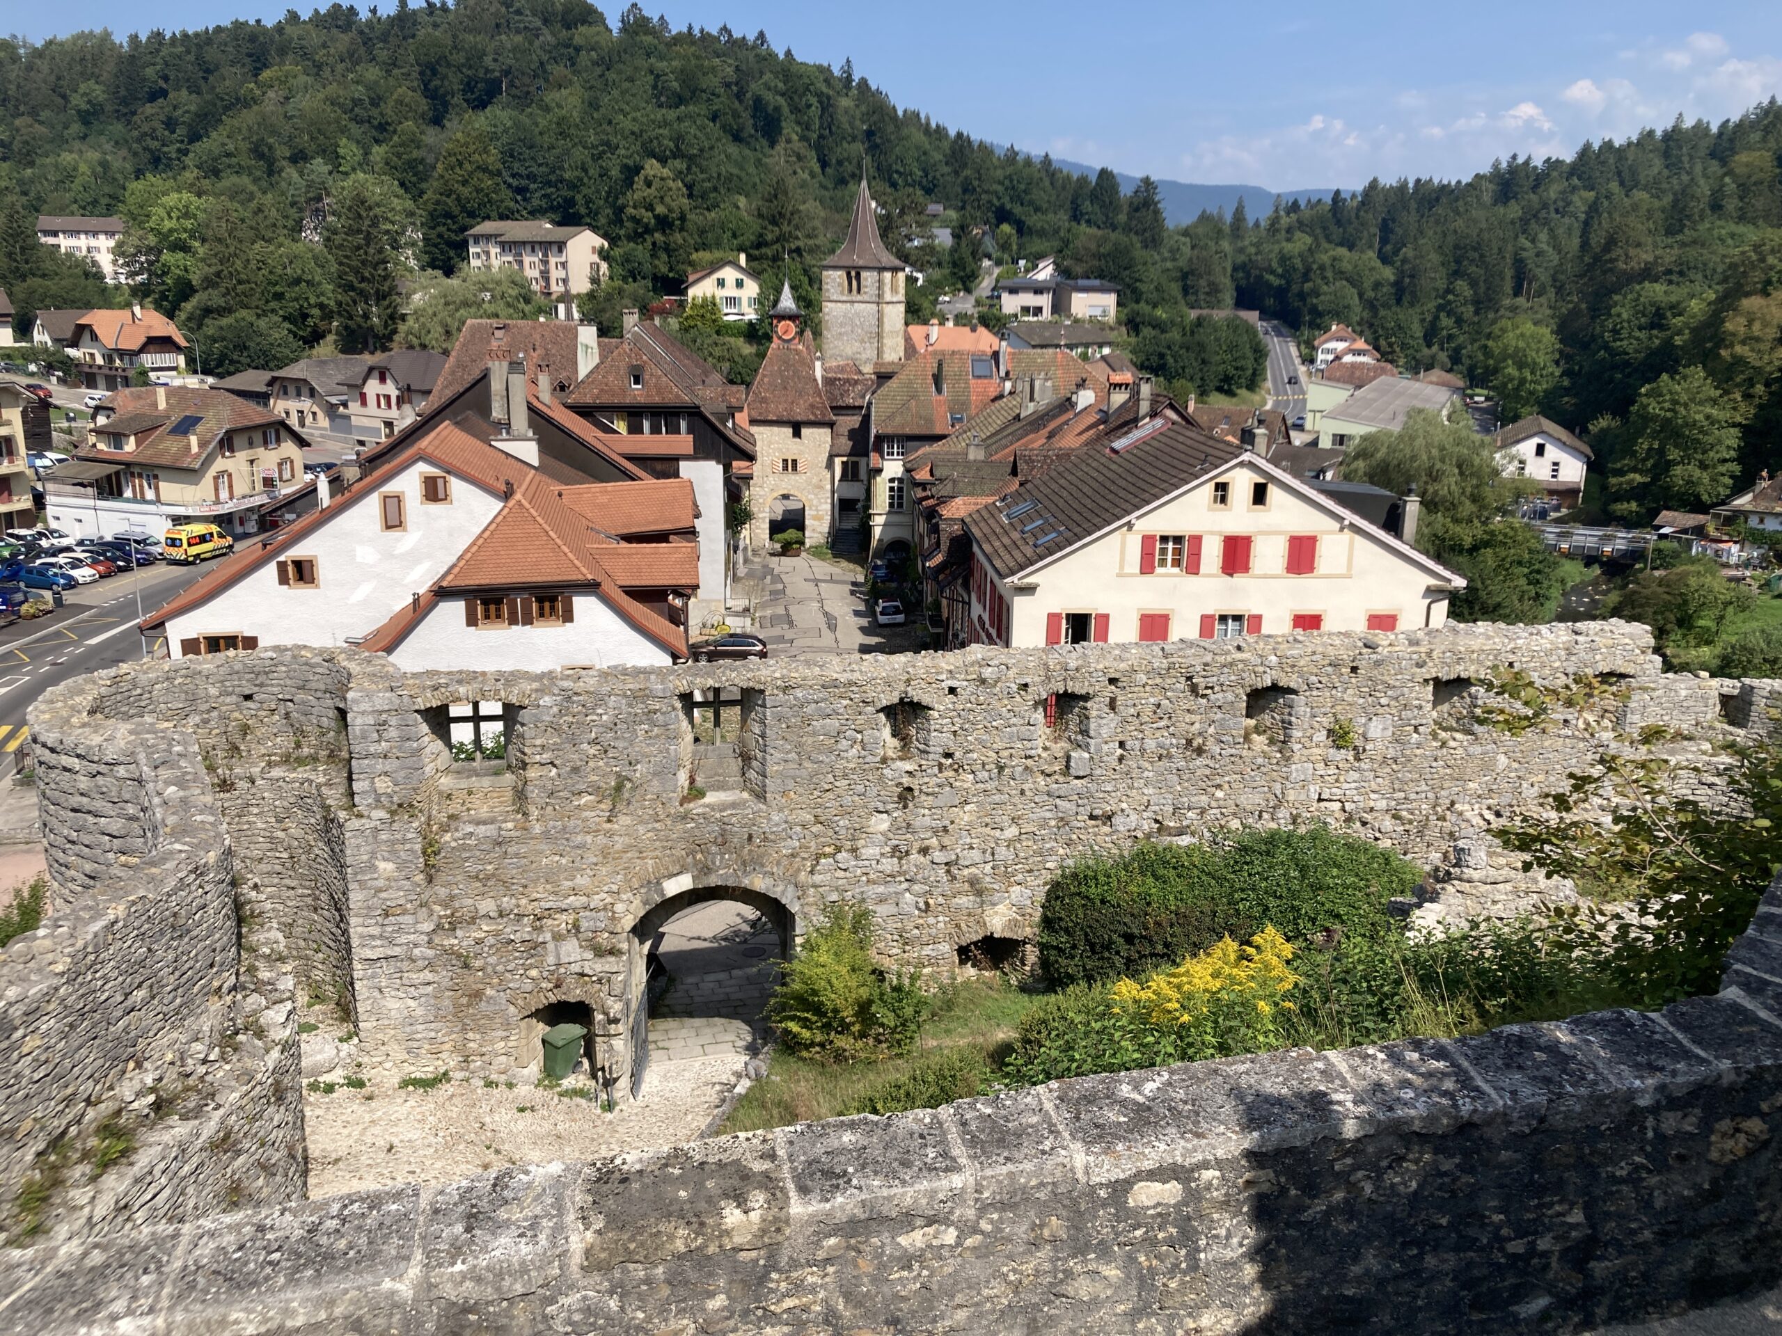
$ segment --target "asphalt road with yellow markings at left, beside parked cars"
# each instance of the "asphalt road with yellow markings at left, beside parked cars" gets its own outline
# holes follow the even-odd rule
[[[25,741],[25,711],[48,688],[71,677],[143,657],[135,631],[137,593],[151,613],[208,566],[146,566],[64,595],[48,618],[0,627],[0,773]],[[41,593],[32,590],[32,593]],[[153,654],[157,645],[150,645]]]

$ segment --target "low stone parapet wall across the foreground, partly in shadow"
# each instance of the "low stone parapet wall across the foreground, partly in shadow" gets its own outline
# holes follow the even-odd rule
[[[1782,1277],[1782,891],[1725,989],[0,1256],[61,1332],[1565,1332]]]

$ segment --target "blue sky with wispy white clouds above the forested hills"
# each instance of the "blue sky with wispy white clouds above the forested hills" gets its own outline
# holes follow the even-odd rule
[[[176,29],[276,18],[287,4],[160,0],[151,12]],[[900,105],[982,139],[1276,191],[1461,176],[1495,157],[1568,155],[1679,112],[1720,121],[1782,96],[1778,0],[645,7],[675,27],[764,29],[805,61],[852,57]],[[617,21],[622,4],[606,9]],[[143,12],[119,0],[5,0],[0,29],[123,32]],[[987,21],[998,12],[1005,25]]]

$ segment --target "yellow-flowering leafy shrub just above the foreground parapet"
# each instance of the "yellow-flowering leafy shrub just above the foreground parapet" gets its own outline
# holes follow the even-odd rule
[[[1023,1083],[1283,1047],[1294,1033],[1294,949],[1272,928],[1221,939],[1142,983],[1076,985],[1021,1019],[1003,1074]]]

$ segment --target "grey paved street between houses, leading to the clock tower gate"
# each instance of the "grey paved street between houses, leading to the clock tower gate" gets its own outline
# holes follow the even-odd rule
[[[745,561],[736,586],[754,600],[768,654],[898,654],[927,648],[920,622],[873,625],[859,568],[813,556]]]

